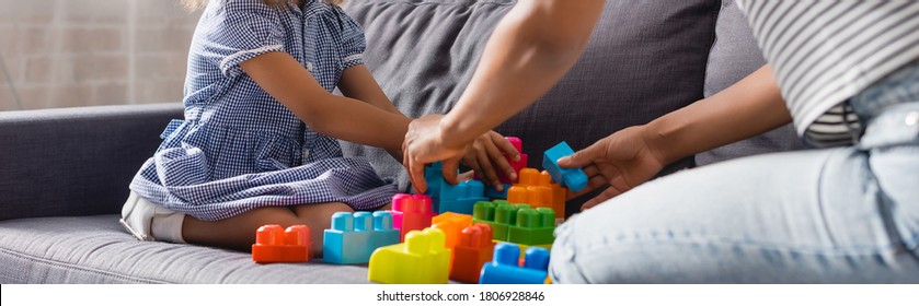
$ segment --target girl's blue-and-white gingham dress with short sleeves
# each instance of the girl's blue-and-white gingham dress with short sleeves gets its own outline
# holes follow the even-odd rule
[[[185,120],[169,123],[131,190],[204,221],[261,207],[344,202],[369,210],[390,201],[394,184],[367,161],[342,157],[335,139],[306,127],[239,67],[284,51],[331,92],[345,68],[363,63],[360,26],[338,7],[305,2],[210,1],[188,56]]]

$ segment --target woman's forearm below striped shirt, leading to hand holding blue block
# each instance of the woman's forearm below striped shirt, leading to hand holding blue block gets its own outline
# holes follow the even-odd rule
[[[763,66],[731,87],[645,126],[666,163],[740,141],[791,122],[772,69]]]

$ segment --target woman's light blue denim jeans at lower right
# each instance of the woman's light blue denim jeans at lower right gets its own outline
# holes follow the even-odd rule
[[[911,101],[852,99],[860,144],[685,170],[572,216],[555,231],[552,281],[919,283]]]

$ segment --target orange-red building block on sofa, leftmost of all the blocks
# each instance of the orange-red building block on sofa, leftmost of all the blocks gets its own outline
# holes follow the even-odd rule
[[[255,232],[255,244],[252,245],[252,261],[259,263],[271,262],[307,262],[312,258],[312,239],[310,227],[294,225],[284,229],[280,225],[268,224]]]

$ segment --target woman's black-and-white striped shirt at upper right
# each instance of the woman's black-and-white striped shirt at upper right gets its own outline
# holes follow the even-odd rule
[[[846,102],[919,59],[919,1],[737,0],[772,66],[797,133],[851,144]]]

